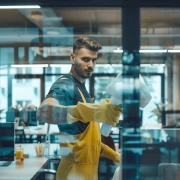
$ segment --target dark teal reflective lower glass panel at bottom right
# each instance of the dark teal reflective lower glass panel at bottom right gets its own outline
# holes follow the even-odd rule
[[[123,138],[123,178],[176,179],[179,172],[180,129],[126,129]],[[171,169],[171,170],[170,170]],[[172,173],[173,172],[173,173]]]

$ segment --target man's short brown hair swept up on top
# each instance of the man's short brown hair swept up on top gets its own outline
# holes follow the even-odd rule
[[[88,36],[81,36],[78,38],[75,38],[74,45],[73,45],[73,53],[75,53],[76,50],[79,50],[81,48],[86,48],[91,51],[96,51],[102,49],[101,44],[99,44],[94,39],[91,39]]]

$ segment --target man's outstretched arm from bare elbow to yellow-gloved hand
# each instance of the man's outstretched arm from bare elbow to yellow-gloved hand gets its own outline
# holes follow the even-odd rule
[[[39,122],[50,124],[96,121],[115,126],[119,122],[121,111],[118,105],[109,102],[99,104],[78,102],[74,106],[63,106],[55,98],[47,98],[38,109],[37,119]]]

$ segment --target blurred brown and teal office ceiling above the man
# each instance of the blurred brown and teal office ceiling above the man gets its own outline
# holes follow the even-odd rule
[[[12,44],[26,46],[33,42],[45,42],[47,46],[51,46],[50,49],[56,46],[59,56],[69,56],[73,38],[88,34],[103,45],[102,61],[112,59],[117,63],[121,55],[112,52],[114,48],[122,45],[121,13],[120,8],[1,10],[0,22],[3,23],[0,23],[0,44],[1,46]],[[146,8],[141,9],[140,14],[141,48],[180,47],[180,9]],[[66,49],[63,49],[65,47]],[[37,51],[36,48],[34,50]],[[157,56],[155,57],[153,59],[157,59]],[[160,57],[164,60],[162,55]]]

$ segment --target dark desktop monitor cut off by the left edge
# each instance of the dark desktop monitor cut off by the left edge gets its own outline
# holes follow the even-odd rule
[[[14,161],[14,122],[0,123],[0,161]]]

